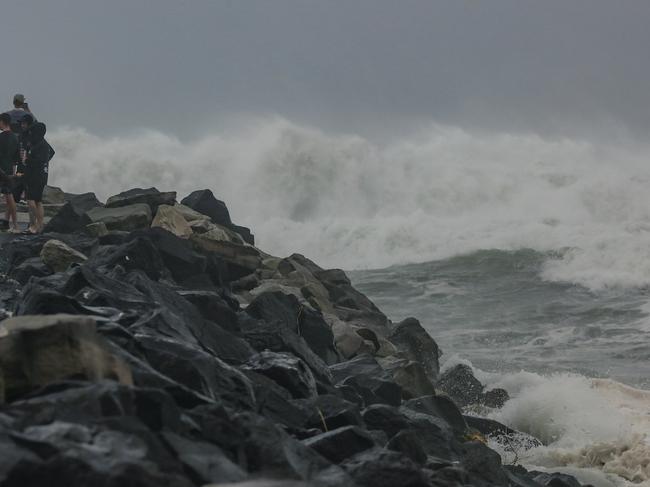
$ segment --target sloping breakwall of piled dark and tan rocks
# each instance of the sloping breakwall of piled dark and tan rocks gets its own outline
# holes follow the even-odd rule
[[[58,206],[2,237],[0,486],[574,485],[503,466],[479,431],[511,431],[463,416],[489,394],[417,320],[210,191]]]

